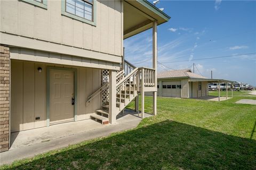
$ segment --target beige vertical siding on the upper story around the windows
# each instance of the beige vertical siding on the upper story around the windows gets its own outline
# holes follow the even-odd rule
[[[47,10],[10,0],[1,3],[1,32],[121,56],[122,1],[97,1],[97,25],[61,15],[61,1],[47,1]]]

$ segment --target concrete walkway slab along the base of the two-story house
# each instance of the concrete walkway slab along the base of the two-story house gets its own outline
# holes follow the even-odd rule
[[[145,117],[150,116],[145,114]],[[14,160],[22,158],[34,157],[85,140],[106,137],[111,133],[133,129],[140,121],[140,114],[125,110],[124,114],[117,116],[117,123],[113,125],[102,125],[92,120],[85,120],[22,131],[12,137],[15,140],[10,150],[0,154],[0,165],[10,164]]]

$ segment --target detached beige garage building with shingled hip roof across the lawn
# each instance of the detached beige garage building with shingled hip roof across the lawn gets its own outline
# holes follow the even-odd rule
[[[208,83],[219,81],[192,73],[189,69],[157,74],[157,95],[163,97],[195,98],[208,96]]]

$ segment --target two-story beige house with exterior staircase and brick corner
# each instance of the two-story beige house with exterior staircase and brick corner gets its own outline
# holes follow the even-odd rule
[[[137,1],[0,1],[0,149],[12,132],[92,118],[115,123],[138,94],[157,91],[157,25],[170,19]],[[153,28],[153,68],[124,75],[123,40]]]

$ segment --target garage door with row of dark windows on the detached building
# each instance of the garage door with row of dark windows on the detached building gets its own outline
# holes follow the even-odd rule
[[[180,81],[163,81],[163,96],[165,97],[181,97]]]

